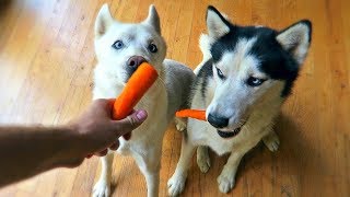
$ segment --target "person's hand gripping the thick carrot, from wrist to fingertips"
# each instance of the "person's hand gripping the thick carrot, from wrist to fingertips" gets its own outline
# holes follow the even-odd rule
[[[69,125],[78,134],[77,152],[81,157],[105,155],[107,148],[116,150],[118,138],[129,134],[147,118],[145,111],[133,111],[127,118],[113,120],[110,117],[114,100],[96,100],[77,120]]]

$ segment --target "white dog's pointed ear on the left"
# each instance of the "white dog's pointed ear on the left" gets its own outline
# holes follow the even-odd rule
[[[108,4],[103,4],[95,21],[95,37],[103,36],[113,24],[113,21]]]

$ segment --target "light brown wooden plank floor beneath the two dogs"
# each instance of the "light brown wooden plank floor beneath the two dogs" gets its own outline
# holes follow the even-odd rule
[[[154,3],[167,57],[195,68],[208,4],[238,24],[283,28],[313,22],[310,55],[276,125],[277,153],[259,144],[242,161],[235,188],[219,193],[217,176],[228,157],[212,153],[201,174],[191,163],[184,196],[350,196],[350,1],[349,0],[1,0],[0,124],[67,123],[91,102],[96,62],[93,25],[104,2],[125,22],[145,18]],[[171,126],[162,158],[160,196],[179,157],[180,134]],[[4,160],[4,158],[0,159]],[[21,164],[21,163],[19,163]],[[0,196],[90,196],[97,158],[0,189]],[[5,169],[0,170],[5,171]],[[130,158],[115,158],[113,196],[145,196]]]

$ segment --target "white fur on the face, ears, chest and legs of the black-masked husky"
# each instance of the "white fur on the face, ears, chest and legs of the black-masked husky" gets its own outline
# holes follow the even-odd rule
[[[196,74],[203,63],[211,58],[210,46],[213,40],[228,33],[228,28],[220,18],[210,10],[207,14],[207,26],[209,35],[203,34],[200,37],[203,61],[195,69]],[[299,24],[277,36],[277,40],[285,49],[289,46],[295,47],[295,42],[299,42],[293,54],[299,63],[303,62],[307,54],[310,45],[308,38],[305,37],[308,34],[305,25]],[[258,89],[240,86],[238,79],[245,79],[247,74],[265,77],[262,72],[256,69],[258,59],[248,53],[254,42],[255,38],[238,40],[236,50],[232,53],[234,55],[224,54],[222,59],[215,63],[215,67],[220,68],[228,79],[224,82],[219,80],[215,70],[213,70],[213,78],[206,81],[205,100],[201,96],[202,92],[195,89],[191,101],[191,108],[207,108],[207,117],[212,112],[231,117],[229,126],[223,130],[232,130],[238,127],[242,119],[246,120],[246,124],[237,136],[223,139],[217,134],[217,128],[209,123],[189,118],[187,138],[183,138],[176,171],[167,183],[170,196],[177,196],[183,192],[190,160],[198,146],[197,163],[203,173],[210,167],[208,148],[205,146],[210,147],[219,155],[231,153],[217,179],[222,193],[228,193],[233,188],[241,159],[261,139],[269,150],[276,151],[278,149],[279,139],[272,130],[272,126],[273,119],[279,114],[284,101],[280,96],[284,82],[268,80]]]

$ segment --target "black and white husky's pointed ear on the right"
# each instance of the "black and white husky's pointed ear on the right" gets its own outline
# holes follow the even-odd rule
[[[312,23],[302,20],[281,31],[276,39],[284,50],[291,53],[299,63],[303,63],[311,44]]]

